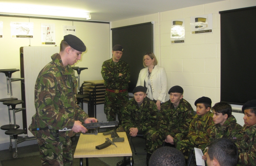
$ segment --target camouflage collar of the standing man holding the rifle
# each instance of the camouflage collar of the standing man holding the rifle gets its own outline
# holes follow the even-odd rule
[[[59,53],[53,54],[51,58],[57,68],[62,71],[63,75],[71,75],[73,73],[73,69],[70,65],[64,67]]]

